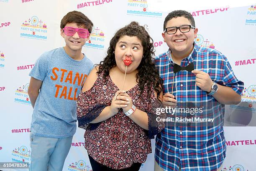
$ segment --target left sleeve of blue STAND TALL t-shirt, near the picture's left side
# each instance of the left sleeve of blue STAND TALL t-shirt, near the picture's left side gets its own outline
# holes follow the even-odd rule
[[[32,68],[31,72],[29,73],[29,76],[43,81],[44,77],[48,72],[48,68],[49,68],[49,58],[48,58],[48,55],[44,53],[36,60],[36,63]]]

